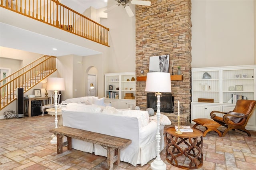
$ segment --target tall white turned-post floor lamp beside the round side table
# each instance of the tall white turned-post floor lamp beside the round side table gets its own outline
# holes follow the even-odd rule
[[[166,164],[160,158],[160,95],[162,93],[171,93],[170,73],[152,72],[147,74],[146,89],[148,92],[155,92],[157,97],[157,132],[156,132],[156,159],[150,164],[152,170],[166,170]]]

